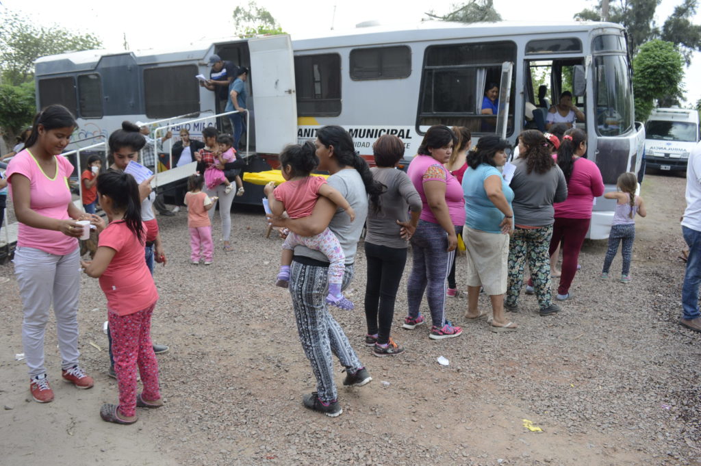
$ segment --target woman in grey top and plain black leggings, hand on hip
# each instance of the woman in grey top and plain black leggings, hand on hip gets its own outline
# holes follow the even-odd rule
[[[365,344],[378,357],[394,356],[404,351],[390,338],[404,266],[407,263],[409,238],[414,234],[421,214],[421,196],[411,179],[397,163],[404,156],[404,143],[396,136],[383,135],[372,144],[376,167],[372,177],[384,186],[377,203],[370,200],[365,234],[367,285],[365,287]],[[408,213],[411,210],[411,219]]]

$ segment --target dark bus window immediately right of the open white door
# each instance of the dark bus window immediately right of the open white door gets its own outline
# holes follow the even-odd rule
[[[341,114],[341,56],[337,53],[294,57],[299,116]]]

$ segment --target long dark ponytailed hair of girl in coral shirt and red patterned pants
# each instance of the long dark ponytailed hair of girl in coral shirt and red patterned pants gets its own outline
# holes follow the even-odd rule
[[[124,223],[136,235],[143,245],[146,231],[141,220],[141,200],[139,185],[130,174],[110,170],[97,177],[97,191],[102,196],[109,196],[117,209],[124,209]]]

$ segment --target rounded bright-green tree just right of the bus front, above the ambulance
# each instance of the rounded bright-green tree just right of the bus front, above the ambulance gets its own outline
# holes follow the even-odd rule
[[[635,119],[646,121],[655,100],[681,97],[684,58],[674,43],[655,39],[644,43],[633,59]]]

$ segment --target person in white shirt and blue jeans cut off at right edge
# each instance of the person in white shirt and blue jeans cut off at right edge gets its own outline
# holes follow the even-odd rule
[[[701,332],[699,284],[701,283],[701,142],[691,151],[686,165],[686,210],[681,233],[689,247],[684,285],[681,288],[682,316],[679,324]]]

